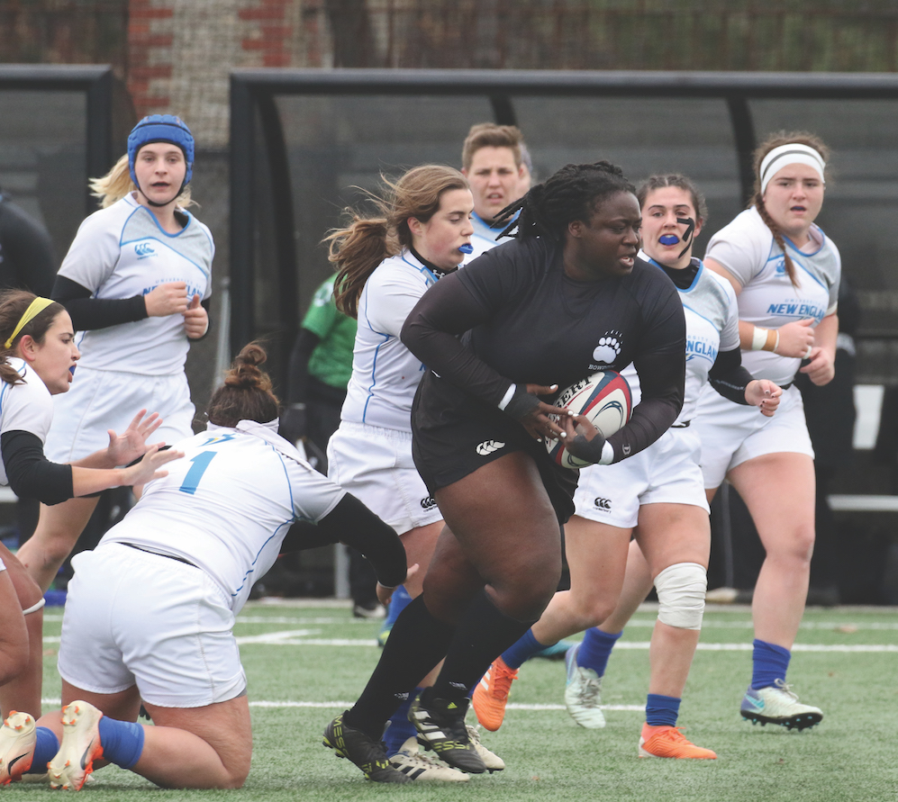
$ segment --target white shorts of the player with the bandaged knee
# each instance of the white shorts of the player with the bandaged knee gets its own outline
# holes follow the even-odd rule
[[[689,504],[710,511],[699,468],[701,444],[692,426],[667,429],[644,451],[619,463],[581,468],[576,515],[631,529],[639,523],[643,504]]]

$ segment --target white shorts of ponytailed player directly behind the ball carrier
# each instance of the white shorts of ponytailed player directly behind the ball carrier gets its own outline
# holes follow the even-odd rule
[[[412,433],[340,421],[327,447],[328,478],[402,535],[443,519],[412,460]]]

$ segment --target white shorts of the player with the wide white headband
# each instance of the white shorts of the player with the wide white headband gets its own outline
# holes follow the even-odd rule
[[[797,387],[783,392],[773,418],[766,418],[757,407],[734,403],[706,387],[699,398],[692,428],[702,441],[706,488],[720,487],[727,473],[756,456],[788,452],[814,457],[802,393]]]

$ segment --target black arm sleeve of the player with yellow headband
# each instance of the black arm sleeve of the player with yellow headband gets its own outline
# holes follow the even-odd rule
[[[43,454],[41,438],[33,432],[4,432],[0,452],[9,486],[20,499],[59,504],[74,495],[72,466],[51,463]]]

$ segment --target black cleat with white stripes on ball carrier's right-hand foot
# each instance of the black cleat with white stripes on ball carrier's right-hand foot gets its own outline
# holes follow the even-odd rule
[[[483,774],[486,764],[471,743],[465,726],[470,699],[454,702],[432,697],[424,689],[412,702],[409,721],[418,730],[418,743],[437,753],[441,761],[471,774]]]

